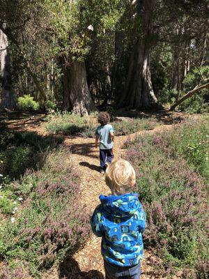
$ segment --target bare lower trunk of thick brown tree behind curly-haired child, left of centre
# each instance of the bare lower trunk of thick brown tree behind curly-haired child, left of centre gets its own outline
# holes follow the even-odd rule
[[[96,110],[86,80],[84,62],[63,65],[63,109],[84,116]]]

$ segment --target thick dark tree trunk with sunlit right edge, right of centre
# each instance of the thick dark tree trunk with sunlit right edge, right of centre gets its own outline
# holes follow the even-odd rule
[[[150,74],[150,47],[153,29],[155,0],[138,1],[144,34],[134,45],[126,80],[125,91],[119,107],[146,109],[157,103]]]

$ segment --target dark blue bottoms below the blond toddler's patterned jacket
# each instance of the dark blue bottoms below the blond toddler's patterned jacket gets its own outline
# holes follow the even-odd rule
[[[141,262],[135,266],[116,266],[104,260],[105,279],[140,279]]]

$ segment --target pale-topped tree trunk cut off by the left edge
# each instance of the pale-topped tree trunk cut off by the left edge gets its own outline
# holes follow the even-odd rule
[[[15,95],[13,92],[12,78],[10,74],[10,54],[8,52],[8,40],[0,29],[0,63],[1,63],[1,108],[13,110],[15,108]]]

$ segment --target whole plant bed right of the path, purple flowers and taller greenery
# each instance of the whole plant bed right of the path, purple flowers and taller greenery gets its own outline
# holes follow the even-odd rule
[[[146,208],[146,247],[162,257],[167,273],[183,269],[185,278],[207,278],[208,119],[137,137],[125,148]]]

